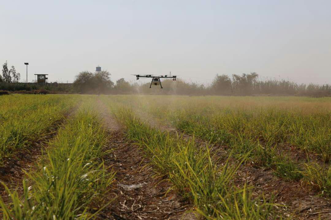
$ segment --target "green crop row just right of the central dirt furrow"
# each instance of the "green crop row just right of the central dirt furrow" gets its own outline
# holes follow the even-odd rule
[[[206,219],[266,219],[272,216],[273,204],[263,196],[254,197],[246,187],[233,184],[234,175],[245,161],[244,155],[236,165],[215,166],[208,146],[198,147],[192,138],[150,127],[122,109],[118,119],[126,126],[127,138],[143,149],[158,175],[167,176],[184,199]]]

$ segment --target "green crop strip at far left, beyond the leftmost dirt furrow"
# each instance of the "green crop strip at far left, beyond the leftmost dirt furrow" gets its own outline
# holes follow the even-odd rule
[[[0,97],[0,162],[34,142],[45,140],[76,103],[75,96]]]

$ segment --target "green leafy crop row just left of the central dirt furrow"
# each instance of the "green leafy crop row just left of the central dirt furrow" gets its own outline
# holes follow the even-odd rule
[[[84,104],[84,106],[87,104]],[[49,143],[38,171],[27,173],[23,196],[6,187],[11,204],[0,201],[4,219],[90,219],[105,198],[115,173],[102,161],[107,139],[98,116],[81,107]]]

